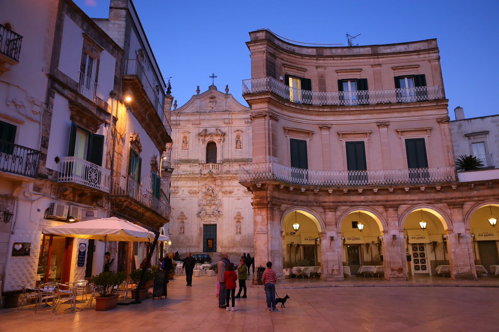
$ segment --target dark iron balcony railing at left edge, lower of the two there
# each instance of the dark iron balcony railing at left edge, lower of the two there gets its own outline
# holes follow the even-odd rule
[[[0,140],[0,171],[36,178],[40,151]]]

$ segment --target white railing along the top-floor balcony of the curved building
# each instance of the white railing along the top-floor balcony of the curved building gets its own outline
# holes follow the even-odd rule
[[[272,77],[243,80],[243,95],[265,91],[272,91],[291,102],[312,105],[410,103],[442,99],[442,91],[438,85],[403,89],[319,92],[291,88]]]

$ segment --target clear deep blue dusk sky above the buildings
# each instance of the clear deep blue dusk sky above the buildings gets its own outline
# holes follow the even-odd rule
[[[108,17],[109,0],[76,0],[90,17]],[[86,4],[85,4],[86,3]],[[498,114],[499,1],[158,1],[134,5],[179,107],[211,84],[243,105],[250,78],[248,32],[268,28],[293,40],[359,45],[437,38],[449,115]],[[167,80],[168,81],[168,80]]]

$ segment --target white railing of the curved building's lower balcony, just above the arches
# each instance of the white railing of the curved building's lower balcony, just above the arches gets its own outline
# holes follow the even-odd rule
[[[454,167],[410,168],[378,171],[314,171],[275,162],[239,166],[239,181],[275,179],[315,186],[369,186],[456,181]]]

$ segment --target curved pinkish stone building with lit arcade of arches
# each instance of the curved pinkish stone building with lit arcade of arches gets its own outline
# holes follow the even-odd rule
[[[247,45],[256,266],[476,279],[475,242],[497,258],[499,180],[456,176],[436,39],[312,47],[261,29]]]

